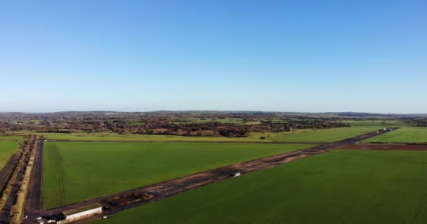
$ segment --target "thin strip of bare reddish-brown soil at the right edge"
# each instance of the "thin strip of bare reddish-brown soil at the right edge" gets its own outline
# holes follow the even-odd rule
[[[342,146],[343,150],[427,151],[427,144],[355,144]]]

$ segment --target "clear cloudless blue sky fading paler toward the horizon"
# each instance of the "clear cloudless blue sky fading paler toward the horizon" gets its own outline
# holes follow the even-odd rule
[[[427,113],[427,1],[1,1],[0,111]]]

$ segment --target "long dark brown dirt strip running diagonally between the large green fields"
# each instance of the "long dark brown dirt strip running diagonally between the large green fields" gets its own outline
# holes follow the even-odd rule
[[[150,202],[155,202],[157,200],[162,200],[166,197],[171,197],[173,195],[178,195],[180,193],[183,193],[185,191],[188,190],[192,190],[195,188],[199,188],[202,186],[206,186],[208,184],[211,183],[216,183],[218,181],[223,181],[225,179],[229,179],[232,178],[232,174],[235,174],[236,172],[240,172],[241,174],[246,174],[249,172],[253,172],[259,169],[265,169],[265,168],[269,168],[269,167],[275,167],[277,165],[281,165],[287,162],[291,162],[293,160],[298,160],[301,158],[306,158],[310,155],[316,155],[319,153],[324,153],[327,152],[333,148],[342,148],[343,146],[350,146],[353,144],[356,144],[358,141],[362,141],[363,139],[368,139],[370,137],[374,137],[376,135],[379,134],[383,134],[385,132],[385,130],[380,130],[379,132],[372,132],[369,134],[362,134],[360,136],[357,137],[353,137],[350,139],[345,139],[345,140],[341,140],[341,141],[336,141],[334,143],[329,143],[329,144],[322,144],[320,146],[315,146],[313,148],[307,148],[307,149],[303,149],[303,150],[299,150],[299,151],[294,151],[291,153],[283,153],[280,155],[274,155],[274,156],[270,156],[267,158],[261,158],[261,159],[256,159],[256,160],[251,160],[251,161],[247,161],[247,162],[240,162],[237,163],[235,165],[230,165],[228,167],[221,167],[218,169],[212,169],[206,172],[200,172],[197,174],[191,174],[189,176],[184,176],[184,177],[180,177],[178,179],[173,179],[173,180],[169,180],[169,181],[164,181],[162,183],[155,183],[151,186],[144,186],[141,188],[136,188],[133,190],[127,190],[121,193],[117,193],[114,195],[107,195],[104,197],[97,197],[97,198],[93,198],[91,200],[86,200],[83,202],[76,202],[73,204],[68,204],[62,207],[57,207],[57,208],[53,208],[53,209],[48,209],[48,210],[41,210],[41,208],[39,207],[39,204],[37,203],[28,203],[26,205],[26,211],[27,211],[27,215],[28,218],[27,220],[25,220],[23,223],[37,223],[35,221],[35,218],[39,217],[39,216],[49,216],[52,214],[58,214],[61,211],[67,210],[67,209],[75,209],[75,208],[79,208],[88,204],[93,204],[93,203],[100,203],[103,204],[103,206],[107,206],[110,207],[109,210],[103,211],[103,216],[105,215],[110,215],[110,214],[114,214],[117,213],[119,211],[123,211],[124,209],[129,209],[132,207],[138,207],[142,204],[147,204]],[[41,149],[41,148],[40,148]],[[42,150],[42,149],[41,149]],[[39,155],[41,155],[41,153],[39,153]],[[38,163],[41,163],[41,160],[36,160]],[[41,173],[41,166],[40,165],[35,165],[35,167],[37,167],[37,169],[34,170],[34,172],[40,172]],[[37,175],[34,174],[33,177],[34,179],[37,179],[37,176],[40,176],[41,174]],[[33,181],[33,179],[32,179]],[[37,181],[37,180],[34,180]],[[39,184],[39,183],[37,183]],[[30,188],[29,189],[29,197],[41,197],[41,193],[40,192],[36,192],[36,193],[32,193],[31,191],[39,191],[40,188]],[[123,198],[123,197],[127,197],[129,195],[132,194],[150,194],[150,195],[154,195],[155,197],[149,199],[149,200],[140,200],[138,202],[132,202],[129,204],[124,204],[124,205],[117,205],[117,204],[112,204],[110,202],[107,202],[107,200],[114,200],[114,198]],[[29,202],[30,201],[34,201],[37,202],[37,200],[40,202],[40,199],[27,199]],[[98,217],[92,217],[92,218],[99,218]],[[81,223],[81,222],[79,222]]]

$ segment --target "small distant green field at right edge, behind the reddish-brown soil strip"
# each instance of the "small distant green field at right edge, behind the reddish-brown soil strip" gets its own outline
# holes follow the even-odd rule
[[[362,142],[427,143],[427,127],[402,127]]]

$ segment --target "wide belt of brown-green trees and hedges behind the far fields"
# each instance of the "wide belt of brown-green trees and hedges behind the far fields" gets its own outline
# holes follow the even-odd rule
[[[164,113],[51,113],[2,118],[0,133],[17,130],[37,132],[114,132],[119,134],[169,134],[192,137],[247,137],[251,132],[289,132],[292,129],[347,127],[331,118],[275,117],[270,113],[231,113],[211,118],[239,118],[239,123],[180,123],[193,114]],[[199,117],[206,118],[206,117]],[[18,120],[18,122],[17,122]],[[201,119],[202,120],[202,119]],[[249,122],[249,123],[247,123]]]

